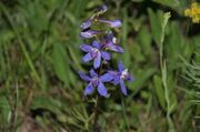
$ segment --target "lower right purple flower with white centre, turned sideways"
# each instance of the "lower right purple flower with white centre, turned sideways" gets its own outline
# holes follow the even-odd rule
[[[127,88],[123,81],[133,81],[133,78],[128,73],[128,69],[124,69],[122,62],[119,62],[118,70],[119,71],[109,71],[108,73],[112,74],[112,83],[114,85],[120,84],[122,93],[127,95]]]

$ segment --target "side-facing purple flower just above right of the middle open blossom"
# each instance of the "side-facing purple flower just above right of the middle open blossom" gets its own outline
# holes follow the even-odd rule
[[[103,48],[116,51],[119,53],[123,53],[123,49],[119,45],[116,44],[116,38],[112,35],[112,33],[109,33],[104,39],[103,39]]]

